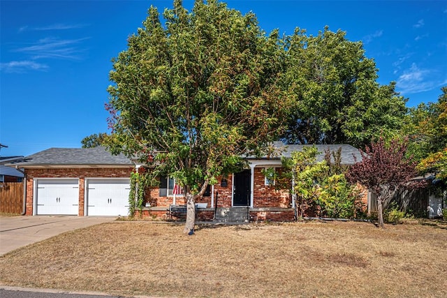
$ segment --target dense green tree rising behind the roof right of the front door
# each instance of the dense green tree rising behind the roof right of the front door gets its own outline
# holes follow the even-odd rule
[[[285,41],[284,84],[295,100],[283,139],[294,144],[363,147],[402,126],[405,100],[395,84],[380,86],[373,59],[361,42],[326,27],[317,36],[295,29]]]

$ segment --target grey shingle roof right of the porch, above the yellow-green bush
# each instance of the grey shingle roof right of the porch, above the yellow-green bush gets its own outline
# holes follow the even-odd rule
[[[324,160],[325,150],[329,149],[330,152],[337,152],[340,147],[342,148],[342,165],[353,165],[356,163],[354,156],[356,156],[357,161],[362,161],[360,151],[349,144],[283,144],[282,142],[274,142],[273,146],[275,147],[275,151],[277,153],[277,156],[273,158],[291,158],[292,152],[302,151],[305,147],[315,146],[319,152],[318,156],[316,156],[317,162]],[[267,158],[267,156],[264,156],[263,158]]]

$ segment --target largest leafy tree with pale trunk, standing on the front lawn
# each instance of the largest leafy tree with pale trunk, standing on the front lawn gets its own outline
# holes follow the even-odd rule
[[[170,174],[187,201],[184,232],[193,231],[194,202],[208,184],[261,154],[279,132],[288,98],[278,84],[284,49],[253,13],[216,0],[151,7],[128,49],[113,60],[109,87],[112,151],[139,156]]]

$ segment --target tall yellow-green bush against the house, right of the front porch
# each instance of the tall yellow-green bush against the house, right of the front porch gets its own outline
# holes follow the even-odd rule
[[[325,161],[316,163],[319,154],[316,147],[304,147],[293,152],[292,158],[282,158],[281,171],[263,170],[266,177],[274,177],[277,189],[291,189],[296,195],[298,216],[309,208],[318,216],[354,218],[362,216],[362,205],[356,187],[344,177],[346,167],[341,165],[341,149],[325,151]],[[331,158],[332,157],[332,158]]]

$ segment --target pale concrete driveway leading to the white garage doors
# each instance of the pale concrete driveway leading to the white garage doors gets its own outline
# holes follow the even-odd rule
[[[0,217],[0,255],[57,234],[115,221],[109,216]]]

